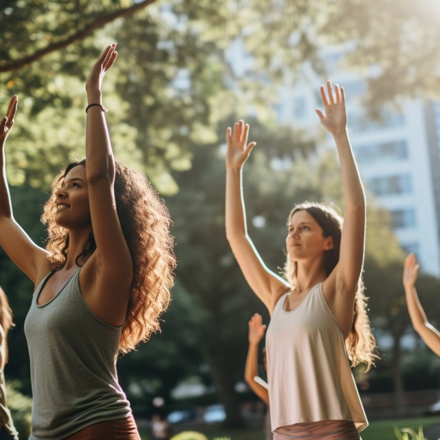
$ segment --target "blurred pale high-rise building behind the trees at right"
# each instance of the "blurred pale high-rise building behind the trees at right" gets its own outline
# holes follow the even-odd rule
[[[417,254],[424,272],[440,275],[440,103],[407,100],[399,110],[384,107],[373,119],[361,102],[366,83],[338,68],[339,58],[338,52],[324,57],[329,78],[344,86],[351,144],[366,190],[391,212],[401,247]],[[302,78],[294,88],[281,89],[278,120],[318,130],[322,78],[313,72]]]

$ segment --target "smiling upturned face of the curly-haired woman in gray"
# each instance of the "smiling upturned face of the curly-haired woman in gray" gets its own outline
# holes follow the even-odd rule
[[[91,227],[89,188],[84,165],[74,166],[56,191],[55,221],[63,228]]]

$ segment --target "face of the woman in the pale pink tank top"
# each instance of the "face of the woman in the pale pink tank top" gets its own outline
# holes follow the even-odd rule
[[[292,261],[321,259],[333,248],[333,238],[325,237],[322,228],[306,210],[297,210],[287,225],[286,246]]]

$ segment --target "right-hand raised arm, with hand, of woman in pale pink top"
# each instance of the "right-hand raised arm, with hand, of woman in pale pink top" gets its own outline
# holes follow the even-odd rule
[[[355,291],[364,263],[365,195],[347,131],[344,89],[336,85],[333,94],[331,82],[327,81],[327,94],[324,86],[320,91],[325,114],[320,110],[316,113],[336,142],[345,199],[339,263],[327,278],[325,288],[333,311],[346,321],[338,320],[341,327],[351,329]]]

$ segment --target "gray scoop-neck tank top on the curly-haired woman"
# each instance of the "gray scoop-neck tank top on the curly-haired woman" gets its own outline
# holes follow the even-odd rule
[[[30,440],[63,439],[92,423],[131,415],[116,373],[122,327],[107,324],[87,307],[79,274],[48,303],[37,305],[47,274],[26,316],[34,399]]]

